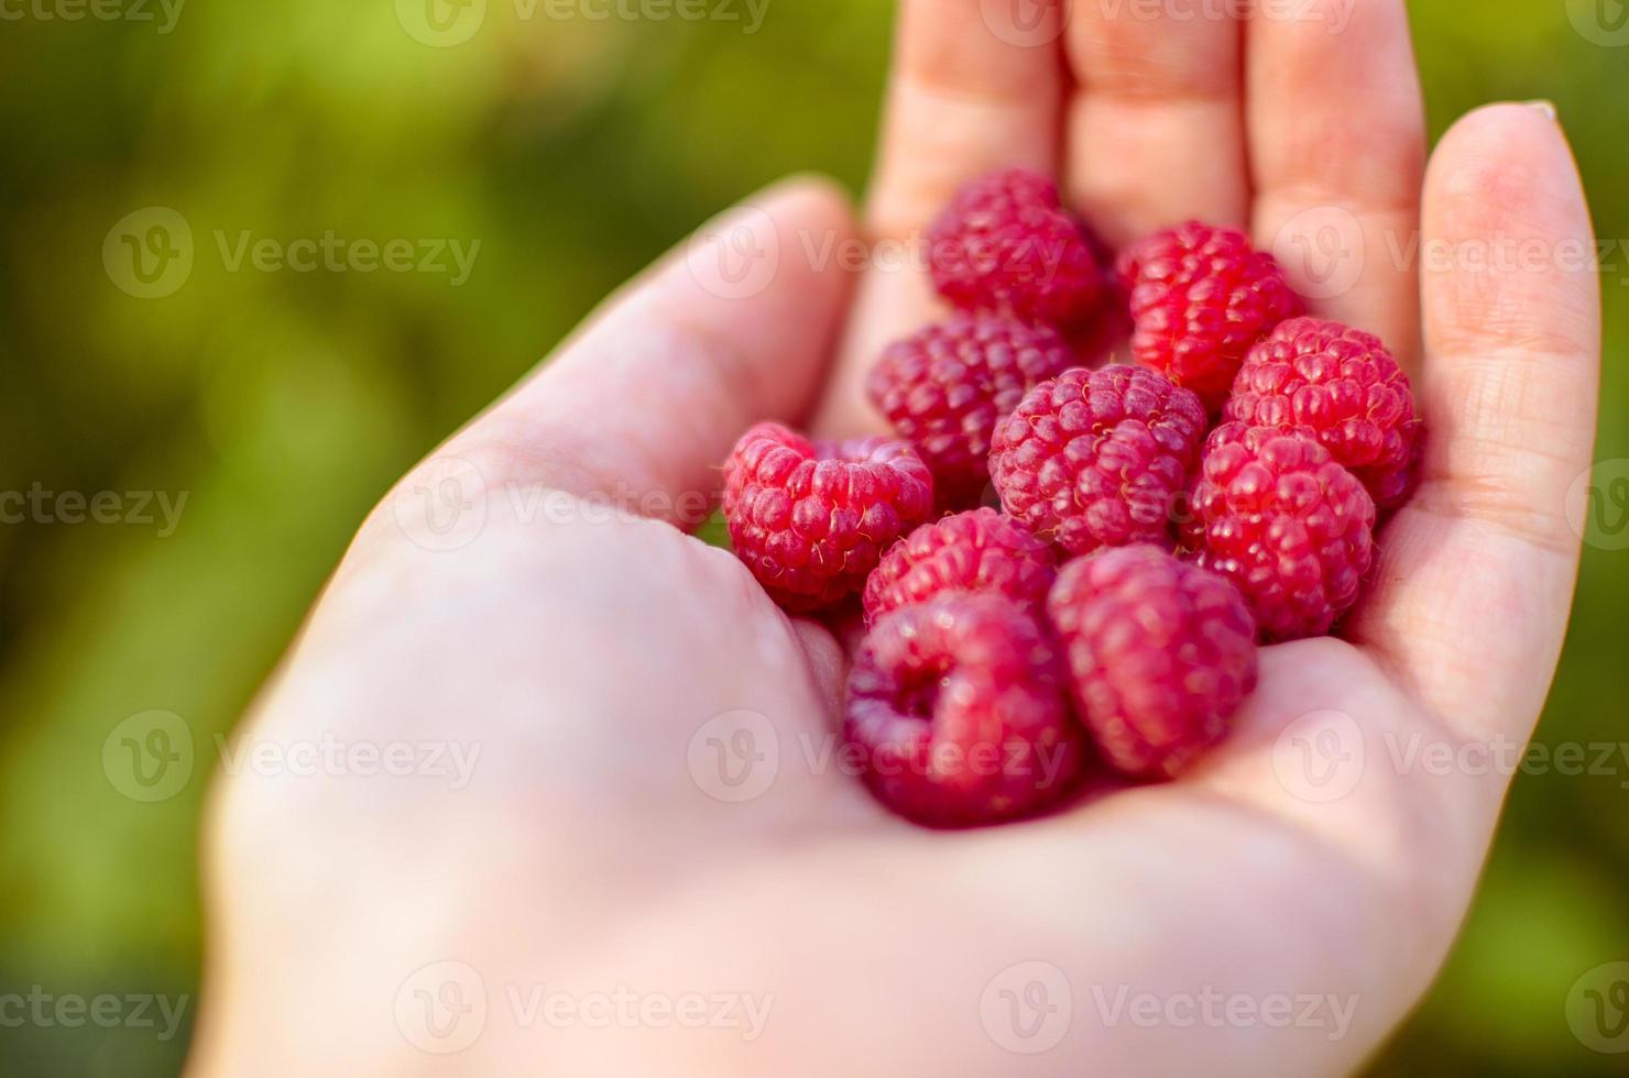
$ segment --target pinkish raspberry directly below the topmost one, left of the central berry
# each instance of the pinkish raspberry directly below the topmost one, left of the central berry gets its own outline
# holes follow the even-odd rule
[[[867,389],[933,472],[940,502],[977,502],[990,432],[1043,378],[1072,363],[1057,331],[1002,314],[958,314],[888,348]]]

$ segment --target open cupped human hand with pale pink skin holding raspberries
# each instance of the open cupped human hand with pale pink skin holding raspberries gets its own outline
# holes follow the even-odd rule
[[[1590,467],[1600,308],[1565,259],[1391,251],[1588,244],[1554,112],[1479,109],[1427,168],[1403,0],[1360,0],[1339,33],[1344,0],[1246,24],[1082,3],[1028,46],[979,0],[901,7],[863,225],[823,181],[756,195],[705,234],[779,251],[762,288],[697,272],[705,239],[676,252],[363,523],[238,736],[481,756],[458,788],[362,767],[217,783],[194,1076],[1321,1075],[1360,1067],[1429,987],[1508,778],[1406,765],[1407,746],[1478,759],[1533,730],[1577,575],[1562,495]],[[1350,213],[1362,272],[1311,308],[1393,345],[1425,459],[1342,638],[1266,648],[1236,731],[1191,773],[932,832],[801,747],[836,730],[844,645],[661,516],[715,492],[756,420],[881,428],[863,373],[937,316],[930,288],[805,239],[909,238],[1007,164],[1059,174],[1116,244],[1199,217],[1271,246],[1305,210]],[[438,549],[417,495],[450,475],[481,526]],[[538,492],[554,511],[526,511]],[[611,495],[650,518],[595,511]],[[740,712],[780,760],[728,801],[691,749]],[[1331,746],[1334,772],[1305,769]],[[415,1026],[425,1000],[476,998],[468,980],[438,995],[440,962],[472,971],[485,1008]],[[1030,982],[1052,1008],[1034,1018],[1064,1016],[1044,1045],[1005,1010]],[[658,1005],[528,1021],[539,985]],[[769,1014],[756,1037],[653,1016],[686,993]],[[1134,1019],[1114,1010],[1127,993],[1161,1006]],[[1205,1021],[1184,1003],[1205,993],[1243,1003]],[[1300,995],[1350,1021],[1246,1013]]]

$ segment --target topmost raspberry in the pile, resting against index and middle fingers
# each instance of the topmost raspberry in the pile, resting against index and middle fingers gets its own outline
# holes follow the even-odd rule
[[[940,293],[964,311],[1083,326],[1096,313],[1103,267],[1057,186],[1026,169],[976,179],[929,230]]]

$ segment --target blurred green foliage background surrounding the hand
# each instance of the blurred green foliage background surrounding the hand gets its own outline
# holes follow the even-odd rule
[[[112,8],[127,18],[68,21],[41,16],[68,3],[29,2],[0,21],[0,490],[186,503],[173,529],[156,503],[150,524],[0,526],[0,993],[191,997],[212,734],[279,658],[352,528],[707,215],[797,169],[858,187],[891,5],[772,0],[744,33],[541,8],[528,21],[492,0],[468,42],[433,47],[406,29],[433,37],[414,23],[422,3],[178,15],[127,0]],[[1482,101],[1554,99],[1611,238],[1629,236],[1619,15],[1616,0],[1414,5],[1434,134]],[[109,230],[147,207],[178,210],[195,238],[191,277],[161,300],[125,287],[173,278],[104,270]],[[143,236],[165,223],[137,221]],[[215,239],[329,230],[481,248],[454,283],[233,272]],[[1603,274],[1609,357],[1629,335],[1626,280],[1619,252]],[[1609,360],[1596,456],[1629,484],[1626,389]],[[1629,537],[1593,539],[1548,744],[1629,736],[1629,552],[1613,549]],[[199,759],[151,803],[103,765],[114,728],[150,710],[182,716]],[[1629,1068],[1567,1021],[1580,975],[1629,959],[1626,787],[1622,760],[1518,778],[1464,936],[1373,1073]],[[168,1039],[0,1026],[0,1071],[174,1073],[191,1016],[189,1003]]]

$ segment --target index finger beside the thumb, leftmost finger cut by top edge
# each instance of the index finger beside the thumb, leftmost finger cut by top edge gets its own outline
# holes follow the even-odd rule
[[[872,270],[814,422],[823,435],[886,430],[865,375],[891,342],[940,318],[925,231],[969,179],[1057,169],[1060,0],[901,0],[876,174]]]

